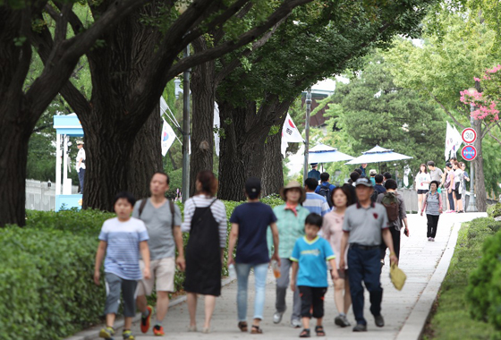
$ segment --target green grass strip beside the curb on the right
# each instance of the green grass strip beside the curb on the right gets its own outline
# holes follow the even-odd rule
[[[477,218],[463,224],[458,235],[446,278],[438,293],[429,323],[422,339],[493,339],[496,329],[487,322],[473,319],[466,300],[468,279],[472,270],[478,267],[482,257],[482,245],[495,234],[488,227],[492,218]]]

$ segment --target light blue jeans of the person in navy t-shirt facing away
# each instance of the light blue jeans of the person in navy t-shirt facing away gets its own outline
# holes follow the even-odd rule
[[[239,321],[247,321],[247,287],[249,283],[250,268],[254,268],[254,285],[256,286],[256,296],[254,297],[254,319],[263,319],[267,265],[267,263],[259,265],[237,263],[235,265],[236,279],[238,283],[236,303]]]

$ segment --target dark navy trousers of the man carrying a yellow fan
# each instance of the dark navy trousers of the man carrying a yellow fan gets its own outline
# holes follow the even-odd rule
[[[379,248],[362,250],[350,247],[348,250],[348,268],[350,268],[350,291],[352,294],[353,314],[357,324],[367,325],[363,318],[363,286],[370,294],[370,312],[377,316],[381,314],[381,301],[383,300],[383,288],[381,287],[380,273],[381,263]]]

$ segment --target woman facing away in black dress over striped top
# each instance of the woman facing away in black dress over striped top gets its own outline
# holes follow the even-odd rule
[[[196,180],[197,194],[184,205],[182,230],[190,233],[186,245],[186,278],[190,311],[190,331],[197,330],[197,294],[205,295],[205,323],[203,333],[210,332],[210,320],[221,295],[221,269],[226,248],[225,204],[214,196],[217,192],[216,176],[200,171]]]

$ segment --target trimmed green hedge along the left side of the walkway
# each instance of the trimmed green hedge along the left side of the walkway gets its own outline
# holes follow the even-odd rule
[[[262,201],[283,203],[277,197]],[[228,220],[240,204],[225,201]],[[106,293],[104,285],[93,283],[94,259],[101,226],[111,217],[91,209],[28,211],[24,228],[0,229],[0,339],[61,339],[100,321]],[[183,237],[186,244],[188,235]],[[177,290],[183,281],[184,274],[176,272]]]

